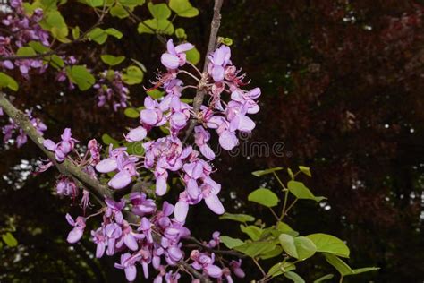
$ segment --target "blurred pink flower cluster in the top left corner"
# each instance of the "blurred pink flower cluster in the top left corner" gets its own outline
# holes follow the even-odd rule
[[[23,10],[21,0],[10,1],[10,6],[12,13],[1,21],[5,30],[10,30],[10,33],[0,36],[0,56],[15,56],[17,49],[24,47],[30,41],[37,41],[48,47],[50,45],[48,32],[39,25],[39,21],[43,18],[43,11],[38,8],[28,16]],[[39,73],[43,73],[47,68],[47,64],[43,64],[41,59],[21,59],[14,62],[4,60],[0,66],[8,70],[18,67],[25,78],[29,77],[28,73],[31,69],[38,69]]]

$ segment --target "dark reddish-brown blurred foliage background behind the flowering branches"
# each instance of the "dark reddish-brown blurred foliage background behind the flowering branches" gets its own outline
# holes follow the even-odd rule
[[[213,2],[192,3],[199,16],[179,18],[174,26],[185,28],[204,52]],[[62,13],[71,26],[78,23],[83,30],[96,21],[81,4],[65,6]],[[148,18],[145,6],[135,13]],[[346,240],[353,267],[381,268],[346,282],[424,279],[423,13],[419,1],[399,0],[225,0],[222,9],[219,34],[233,39],[233,64],[248,73],[251,87],[262,89],[250,142],[284,142],[284,157],[223,153],[216,159],[214,176],[223,184],[226,210],[258,215],[271,224],[268,210],[246,199],[259,184],[275,189],[277,184],[250,172],[310,167],[313,177],[303,181],[328,200],[323,205],[300,202],[289,224],[301,234],[323,232]],[[124,38],[109,39],[106,47],[78,44],[70,52],[96,71],[106,67],[99,63],[99,52],[136,58],[148,68],[148,86],[164,47],[154,36],[137,35],[130,20],[109,17],[105,27],[123,31]],[[121,138],[125,127],[137,124],[122,111],[96,107],[94,90],[70,91],[54,78],[53,72],[32,76],[21,83],[14,100],[21,109],[42,107],[34,113],[48,124],[48,137],[72,127],[84,143],[103,133]],[[132,104],[140,106],[145,95],[140,86],[131,88]],[[13,221],[20,243],[1,250],[0,279],[122,281],[123,272],[112,267],[115,259],[93,260],[95,245],[88,237],[72,247],[64,241],[70,229],[64,214],[76,215],[79,209],[52,195],[55,169],[30,174],[41,151],[31,142],[21,150],[0,149],[0,227]],[[168,198],[174,201],[175,195]],[[193,235],[201,239],[208,240],[216,229],[242,236],[236,225],[218,221],[202,205],[191,210],[189,219]],[[322,258],[314,263],[322,267],[300,264],[298,273],[307,282],[335,272]],[[243,264],[249,279],[260,278],[249,262]]]

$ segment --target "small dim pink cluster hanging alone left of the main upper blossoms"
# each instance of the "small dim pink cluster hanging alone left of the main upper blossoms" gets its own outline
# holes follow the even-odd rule
[[[130,90],[123,85],[122,73],[107,70],[99,74],[99,80],[94,85],[98,90],[98,107],[104,107],[109,103],[116,112],[120,107],[127,107]]]

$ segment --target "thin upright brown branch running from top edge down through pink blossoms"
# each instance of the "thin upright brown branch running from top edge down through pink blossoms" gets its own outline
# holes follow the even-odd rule
[[[212,53],[212,51],[216,48],[216,38],[219,30],[219,26],[221,25],[221,7],[223,4],[223,0],[215,0],[214,4],[214,16],[212,18],[212,21],[210,22],[210,34],[209,34],[209,42],[208,42],[208,50],[205,55],[205,61],[203,64],[203,75],[207,75],[208,71],[208,55]],[[189,128],[185,132],[185,137],[183,139],[183,142],[186,142],[187,139],[190,137],[191,133],[194,130],[194,127],[198,123],[196,116],[199,114],[200,107],[203,103],[203,99],[205,99],[205,95],[207,94],[208,90],[205,88],[201,88],[196,92],[196,96],[193,99],[193,111],[195,114],[195,118],[191,119]]]

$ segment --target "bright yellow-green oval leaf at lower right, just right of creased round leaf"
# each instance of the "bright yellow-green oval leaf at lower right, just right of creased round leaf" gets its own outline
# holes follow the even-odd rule
[[[317,252],[333,253],[342,257],[349,257],[349,248],[341,239],[328,234],[317,233],[306,236],[317,246]]]

